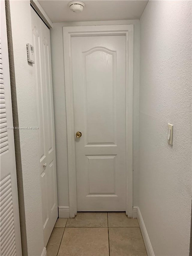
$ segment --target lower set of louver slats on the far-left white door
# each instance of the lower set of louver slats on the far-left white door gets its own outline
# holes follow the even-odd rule
[[[0,182],[0,202],[1,255],[14,256],[16,245],[10,174]]]

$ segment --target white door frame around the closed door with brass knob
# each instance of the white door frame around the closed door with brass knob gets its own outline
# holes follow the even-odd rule
[[[77,214],[76,196],[76,154],[75,120],[73,100],[73,74],[71,56],[71,37],[94,35],[126,36],[126,215],[133,216],[133,53],[134,25],[101,25],[63,27],[64,80],[67,118],[67,154],[69,180],[69,215]],[[129,122],[128,122],[129,120]]]

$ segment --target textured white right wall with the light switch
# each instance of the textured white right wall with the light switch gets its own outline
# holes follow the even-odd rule
[[[173,146],[167,143],[172,123]],[[191,2],[149,1],[140,19],[139,207],[155,255],[189,255]]]

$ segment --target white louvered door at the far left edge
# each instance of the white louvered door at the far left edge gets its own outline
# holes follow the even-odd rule
[[[17,193],[13,116],[10,92],[9,58],[5,2],[1,1],[1,38],[0,38],[0,247],[1,255],[22,255],[19,223],[19,204]]]

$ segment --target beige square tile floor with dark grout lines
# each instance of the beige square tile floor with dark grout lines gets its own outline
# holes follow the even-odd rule
[[[58,218],[47,256],[146,256],[137,219],[125,212],[78,212]]]

